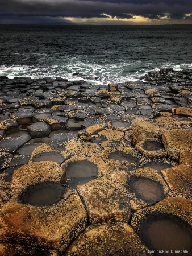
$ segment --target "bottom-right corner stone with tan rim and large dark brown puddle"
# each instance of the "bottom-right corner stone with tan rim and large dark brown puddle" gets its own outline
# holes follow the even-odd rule
[[[172,255],[191,255],[191,211],[191,200],[169,197],[134,213],[131,226],[149,250],[172,250]]]

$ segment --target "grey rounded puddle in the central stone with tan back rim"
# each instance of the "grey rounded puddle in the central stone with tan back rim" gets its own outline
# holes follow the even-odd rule
[[[65,169],[66,177],[71,178],[85,178],[98,175],[97,165],[87,160],[80,160],[70,162]]]

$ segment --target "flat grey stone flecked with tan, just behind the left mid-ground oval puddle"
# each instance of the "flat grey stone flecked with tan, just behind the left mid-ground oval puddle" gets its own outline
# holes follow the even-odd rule
[[[59,133],[54,135],[50,141],[49,145],[53,148],[59,150],[65,150],[66,144],[70,142],[77,141],[78,135],[74,133]]]

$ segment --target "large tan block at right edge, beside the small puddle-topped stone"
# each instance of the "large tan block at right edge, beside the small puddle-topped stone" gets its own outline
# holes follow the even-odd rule
[[[179,159],[180,151],[190,147],[192,130],[170,130],[162,134],[162,142],[170,158]]]

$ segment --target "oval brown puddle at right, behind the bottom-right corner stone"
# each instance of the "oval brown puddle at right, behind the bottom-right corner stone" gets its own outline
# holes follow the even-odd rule
[[[162,185],[146,177],[131,177],[130,188],[137,197],[147,203],[156,203],[164,199]]]

